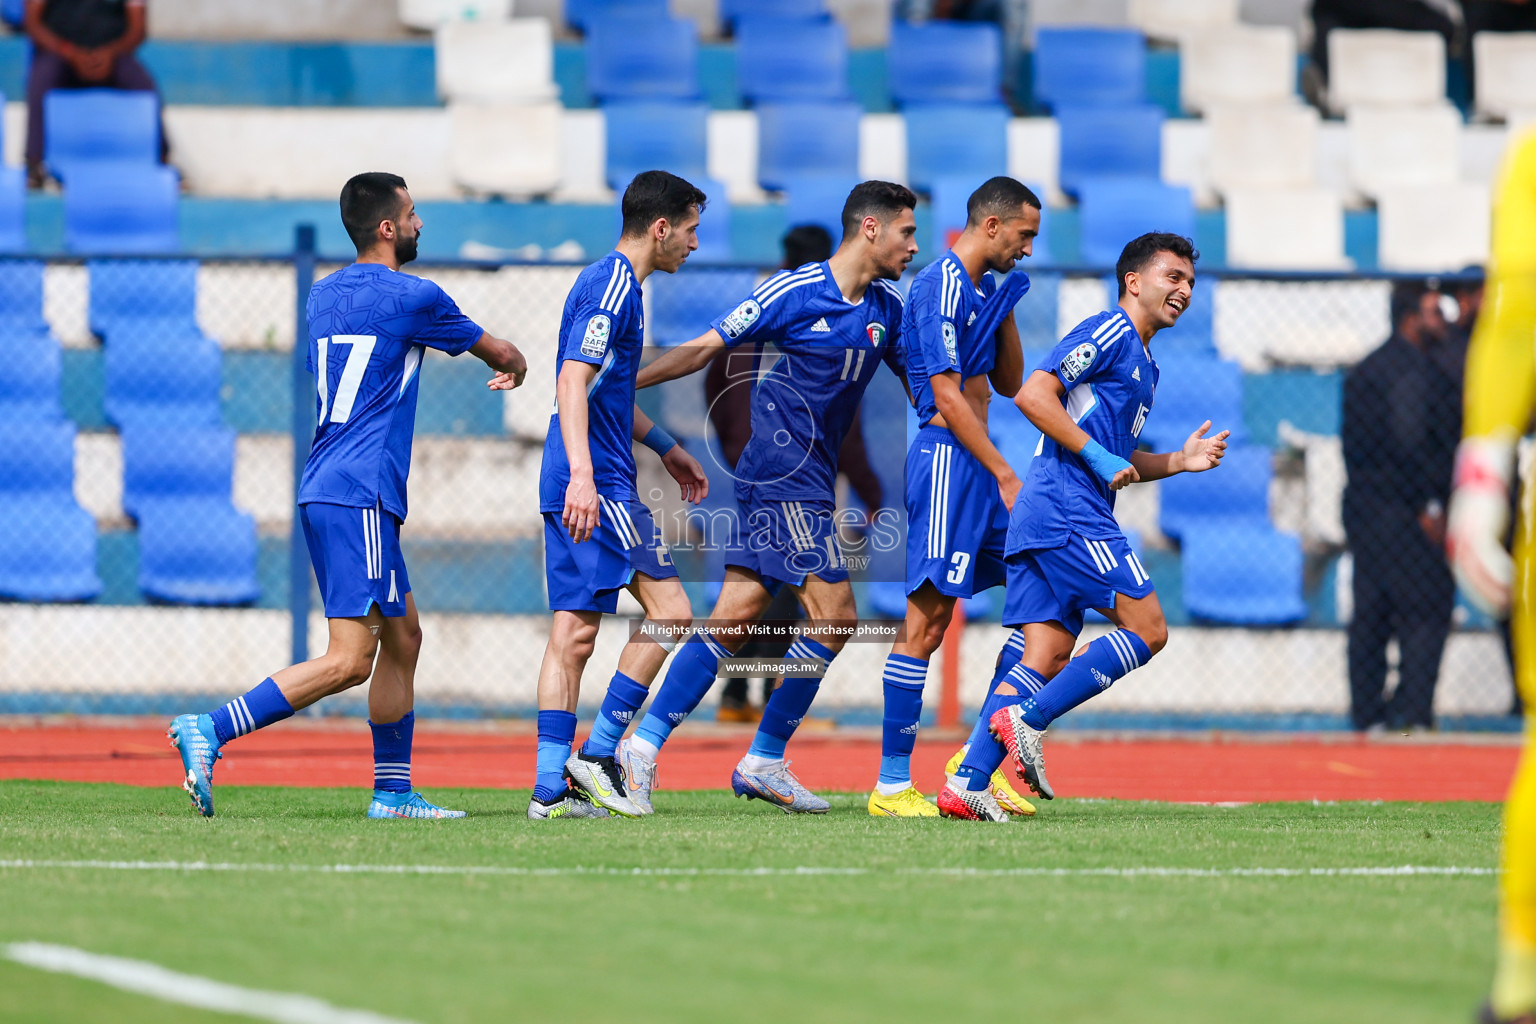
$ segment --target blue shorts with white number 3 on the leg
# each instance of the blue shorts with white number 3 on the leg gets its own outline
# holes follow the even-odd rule
[[[1006,580],[1008,507],[994,477],[943,427],[906,450],[906,593],[931,582],[974,597]]]

